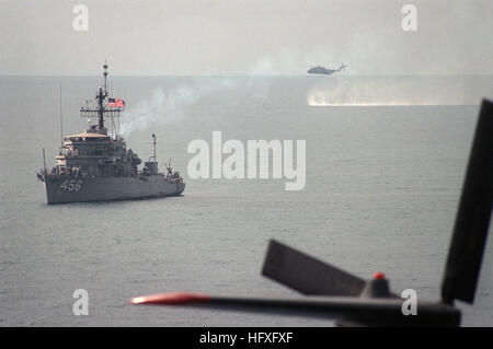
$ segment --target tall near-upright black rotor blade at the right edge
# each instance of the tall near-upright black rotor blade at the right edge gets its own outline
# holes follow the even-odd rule
[[[442,284],[443,301],[472,303],[493,200],[493,103],[483,101]]]

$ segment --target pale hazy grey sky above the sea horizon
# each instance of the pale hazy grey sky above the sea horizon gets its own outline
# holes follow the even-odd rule
[[[0,74],[491,74],[492,19],[492,0],[0,0]]]

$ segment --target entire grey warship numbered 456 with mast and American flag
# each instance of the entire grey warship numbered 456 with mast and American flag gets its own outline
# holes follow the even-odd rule
[[[165,173],[159,172],[154,135],[153,155],[144,163],[142,170],[138,168],[141,160],[126,147],[119,135],[119,121],[118,128],[114,121],[115,118],[119,120],[125,102],[110,97],[107,65],[103,68],[104,85],[99,86],[94,105],[80,109],[81,117],[88,120],[96,117],[98,125],[89,123],[84,132],[62,137],[60,153],[51,170],[46,167],[43,149],[44,167],[37,177],[45,185],[47,202],[131,200],[181,195],[185,183],[180,173],[173,173],[171,160],[165,164]],[[104,125],[105,118],[112,121],[111,135]]]

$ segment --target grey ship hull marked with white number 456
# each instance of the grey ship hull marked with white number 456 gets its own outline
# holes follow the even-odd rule
[[[183,181],[160,175],[104,178],[46,175],[44,183],[49,205],[179,196],[185,189]]]

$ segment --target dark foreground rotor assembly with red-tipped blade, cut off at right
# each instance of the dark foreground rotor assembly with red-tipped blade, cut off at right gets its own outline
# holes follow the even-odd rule
[[[131,299],[131,304],[180,305],[335,319],[345,326],[459,326],[456,300],[473,303],[493,200],[493,103],[484,100],[455,221],[437,302],[417,301],[405,316],[382,274],[363,280],[271,241],[262,274],[303,296],[250,298],[171,292]]]

